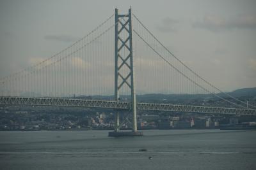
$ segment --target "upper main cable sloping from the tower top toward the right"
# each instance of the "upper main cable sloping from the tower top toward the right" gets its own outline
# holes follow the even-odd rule
[[[152,34],[152,32],[150,32],[147,27],[145,27],[145,25],[138,19],[138,17],[136,17],[136,15],[132,14],[134,18],[136,18],[136,20],[138,20],[138,22],[142,25],[142,27],[144,27],[144,29],[146,29],[146,31],[154,38],[156,39],[156,41],[163,46],[163,48],[170,53],[176,60],[178,60],[180,62],[180,64],[182,64],[182,66],[186,67],[189,71],[191,71],[191,73],[195,74],[198,78],[200,78],[202,81],[204,81],[205,83],[207,83],[208,85],[210,85],[212,88],[218,90],[219,92],[225,94],[228,97],[231,97],[232,99],[239,101],[243,104],[247,104],[244,101],[241,101],[239,99],[237,99],[236,97],[230,96],[230,94],[227,94],[226,92],[223,92],[222,90],[218,89],[218,87],[215,87],[214,85],[212,85],[211,83],[209,83],[209,81],[205,80],[204,78],[202,78],[202,76],[198,75],[197,73],[195,73],[195,71],[193,71],[190,67],[186,66],[186,64],[184,64],[184,62],[182,62],[178,57],[176,57],[172,52],[170,52],[170,50],[168,50],[168,48],[166,48],[166,46],[163,45],[163,43],[161,43],[156,36],[154,36],[154,34]],[[212,93],[211,93],[212,94]],[[248,106],[252,106],[253,108],[256,108],[256,106],[253,106],[252,104],[248,104]]]

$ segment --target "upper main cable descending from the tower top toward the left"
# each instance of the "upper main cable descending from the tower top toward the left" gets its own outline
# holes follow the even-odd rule
[[[86,34],[86,36],[83,36],[83,38],[78,39],[76,42],[72,43],[72,45],[68,46],[67,48],[61,50],[60,52],[58,52],[58,53],[56,53],[56,54],[54,54],[54,55],[52,55],[52,56],[49,57],[48,59],[43,60],[42,62],[38,62],[37,64],[35,64],[35,65],[33,65],[33,66],[26,67],[25,69],[22,69],[21,71],[18,71],[18,72],[16,72],[16,73],[10,74],[9,76],[5,76],[5,77],[3,77],[3,78],[0,78],[0,82],[4,82],[4,81],[2,81],[2,80],[8,79],[9,77],[14,76],[15,74],[20,74],[20,73],[22,73],[22,72],[28,71],[29,69],[33,69],[33,68],[36,67],[36,66],[40,66],[40,64],[43,64],[44,62],[47,62],[47,61],[49,61],[49,60],[51,61],[52,58],[54,58],[54,57],[60,55],[60,53],[65,52],[66,50],[68,50],[68,48],[70,48],[70,47],[76,45],[77,43],[79,43],[79,42],[81,42],[81,41],[83,41],[83,39],[87,38],[87,37],[90,36],[93,32],[97,31],[100,27],[102,27],[102,25],[106,24],[106,22],[108,22],[111,18],[113,18],[113,16],[114,16],[114,14],[111,15],[110,17],[108,17],[106,20],[104,20],[104,22],[102,22],[100,25],[98,25],[98,26],[97,26],[95,29],[93,29],[91,32],[89,32],[88,34]]]

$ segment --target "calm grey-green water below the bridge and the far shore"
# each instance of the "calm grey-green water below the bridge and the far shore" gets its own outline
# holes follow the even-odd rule
[[[256,131],[143,132],[0,132],[0,169],[256,169]]]

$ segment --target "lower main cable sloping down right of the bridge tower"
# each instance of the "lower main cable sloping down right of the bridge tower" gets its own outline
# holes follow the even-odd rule
[[[212,95],[214,95],[214,96],[216,96],[216,97],[222,99],[223,101],[227,101],[228,103],[234,104],[235,106],[240,106],[240,105],[238,105],[238,104],[236,104],[236,103],[233,103],[232,101],[228,101],[227,99],[225,99],[225,98],[223,98],[223,97],[221,97],[221,96],[218,96],[218,95],[212,93],[211,91],[209,91],[209,90],[205,89],[204,87],[202,87],[202,85],[199,85],[199,84],[196,83],[194,80],[192,80],[191,78],[189,78],[188,76],[186,76],[186,74],[182,73],[179,69],[177,69],[175,66],[173,66],[173,64],[171,64],[168,60],[164,59],[164,57],[163,57],[159,52],[157,52],[151,45],[149,45],[149,44],[147,43],[147,41],[145,41],[145,39],[143,39],[143,38],[140,36],[140,34],[138,34],[138,32],[136,32],[134,29],[133,29],[133,31],[134,31],[134,33],[135,33],[137,36],[139,36],[139,38],[140,38],[146,45],[148,45],[159,57],[161,57],[161,59],[163,59],[169,66],[173,67],[173,69],[175,69],[177,72],[179,72],[180,74],[182,74],[182,76],[184,76],[185,78],[187,78],[189,81],[193,82],[195,85],[197,85],[197,86],[200,87],[201,89],[204,89],[205,91],[209,92],[210,94],[212,94]],[[246,108],[246,107],[244,107],[244,106],[240,106],[240,107]]]

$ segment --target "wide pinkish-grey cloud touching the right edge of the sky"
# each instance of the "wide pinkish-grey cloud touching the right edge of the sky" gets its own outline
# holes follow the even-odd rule
[[[223,18],[216,15],[206,15],[203,20],[193,22],[192,26],[213,32],[233,29],[256,29],[256,16],[237,15],[236,17]]]

